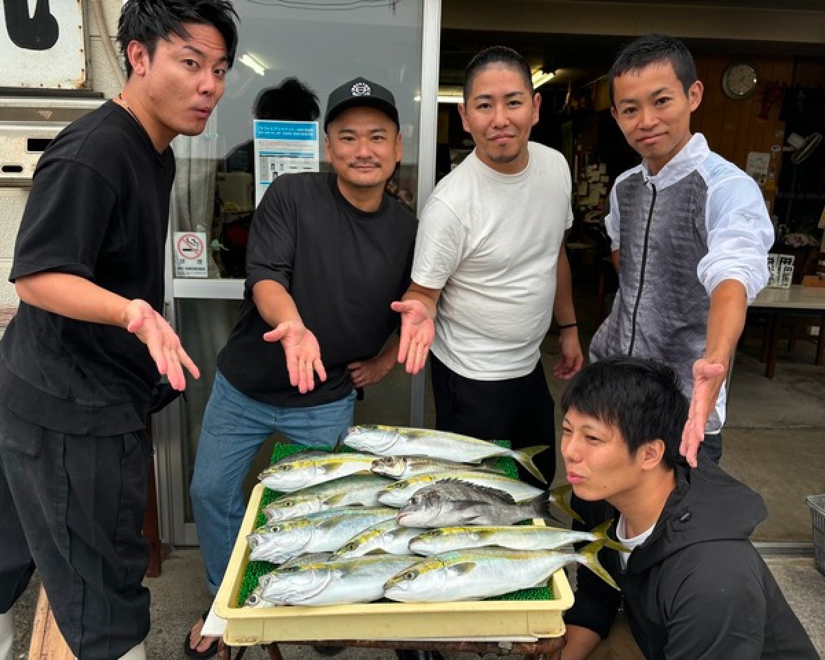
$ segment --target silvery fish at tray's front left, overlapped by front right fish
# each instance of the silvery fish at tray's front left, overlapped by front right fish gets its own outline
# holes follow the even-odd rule
[[[262,597],[285,605],[367,603],[384,596],[384,582],[421,557],[370,554],[356,559],[303,563],[261,577]]]

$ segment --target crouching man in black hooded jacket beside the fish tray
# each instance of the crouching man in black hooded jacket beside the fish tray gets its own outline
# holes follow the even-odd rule
[[[819,658],[748,537],[762,498],[700,454],[679,455],[689,404],[676,373],[615,356],[589,365],[562,398],[561,452],[582,529],[614,519],[630,549],[599,561],[621,587],[577,574],[564,660],[583,660],[616,611],[650,660]]]

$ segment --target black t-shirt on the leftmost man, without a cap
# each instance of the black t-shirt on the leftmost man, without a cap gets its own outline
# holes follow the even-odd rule
[[[45,150],[9,279],[68,273],[161,310],[172,149],[107,101]],[[0,403],[42,427],[108,436],[144,427],[158,370],[122,328],[20,304],[0,342]]]

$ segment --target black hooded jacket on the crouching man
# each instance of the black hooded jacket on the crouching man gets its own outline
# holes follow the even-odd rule
[[[615,550],[599,560],[621,587],[578,568],[576,600],[564,619],[606,637],[620,604],[649,660],[818,660],[808,634],[748,540],[766,516],[757,493],[705,459],[677,468],[676,489],[653,533],[622,570]],[[574,498],[592,529],[618,513]],[[610,529],[615,538],[615,524]]]

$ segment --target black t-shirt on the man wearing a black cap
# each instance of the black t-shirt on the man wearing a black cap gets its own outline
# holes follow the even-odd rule
[[[248,397],[279,406],[337,401],[352,391],[347,365],[374,357],[398,328],[389,309],[407,290],[416,219],[384,195],[366,213],[338,190],[334,173],[290,174],[272,181],[258,206],[247,247],[240,318],[220,351],[218,368]],[[252,302],[252,286],[279,282],[318,339],[327,380],[300,394],[290,385],[281,342]]]

